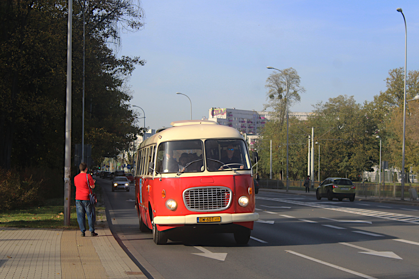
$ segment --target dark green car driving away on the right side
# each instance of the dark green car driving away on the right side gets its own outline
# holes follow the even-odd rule
[[[317,187],[316,198],[320,200],[322,197],[327,197],[327,200],[337,198],[339,201],[349,198],[349,201],[353,202],[355,200],[355,186],[350,179],[329,177]]]

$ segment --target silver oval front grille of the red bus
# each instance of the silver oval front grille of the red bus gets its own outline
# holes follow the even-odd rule
[[[230,206],[232,192],[227,187],[193,187],[183,192],[186,208],[190,211],[221,211]]]

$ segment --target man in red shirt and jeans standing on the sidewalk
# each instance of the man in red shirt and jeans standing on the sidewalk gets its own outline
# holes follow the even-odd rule
[[[95,188],[96,180],[87,173],[87,164],[81,163],[79,166],[80,174],[74,177],[76,187],[76,212],[77,222],[79,223],[81,236],[85,236],[86,214],[89,223],[90,236],[98,235],[95,233],[96,212],[95,205],[92,205],[89,198],[91,189]],[[89,186],[91,189],[89,189]],[[93,191],[92,191],[93,192]]]

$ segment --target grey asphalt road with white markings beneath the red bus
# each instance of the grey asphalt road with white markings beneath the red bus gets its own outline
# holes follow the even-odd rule
[[[419,222],[400,221],[414,222],[418,207],[260,191],[256,212],[264,223],[255,222],[247,245],[235,244],[233,234],[192,233],[155,245],[139,230],[134,187],[111,192],[110,181],[97,183],[119,237],[166,279],[419,278]]]

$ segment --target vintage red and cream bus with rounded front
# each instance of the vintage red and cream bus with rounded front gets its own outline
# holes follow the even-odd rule
[[[135,169],[140,230],[166,244],[170,230],[234,233],[249,241],[255,213],[251,159],[243,136],[212,121],[172,122],[141,143]]]

